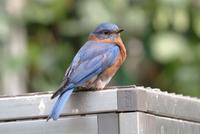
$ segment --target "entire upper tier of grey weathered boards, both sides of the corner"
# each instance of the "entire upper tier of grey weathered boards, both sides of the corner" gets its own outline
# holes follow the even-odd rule
[[[0,121],[46,117],[56,99],[51,93],[0,97]],[[75,92],[62,115],[141,111],[200,122],[200,100],[143,87],[112,87]]]

